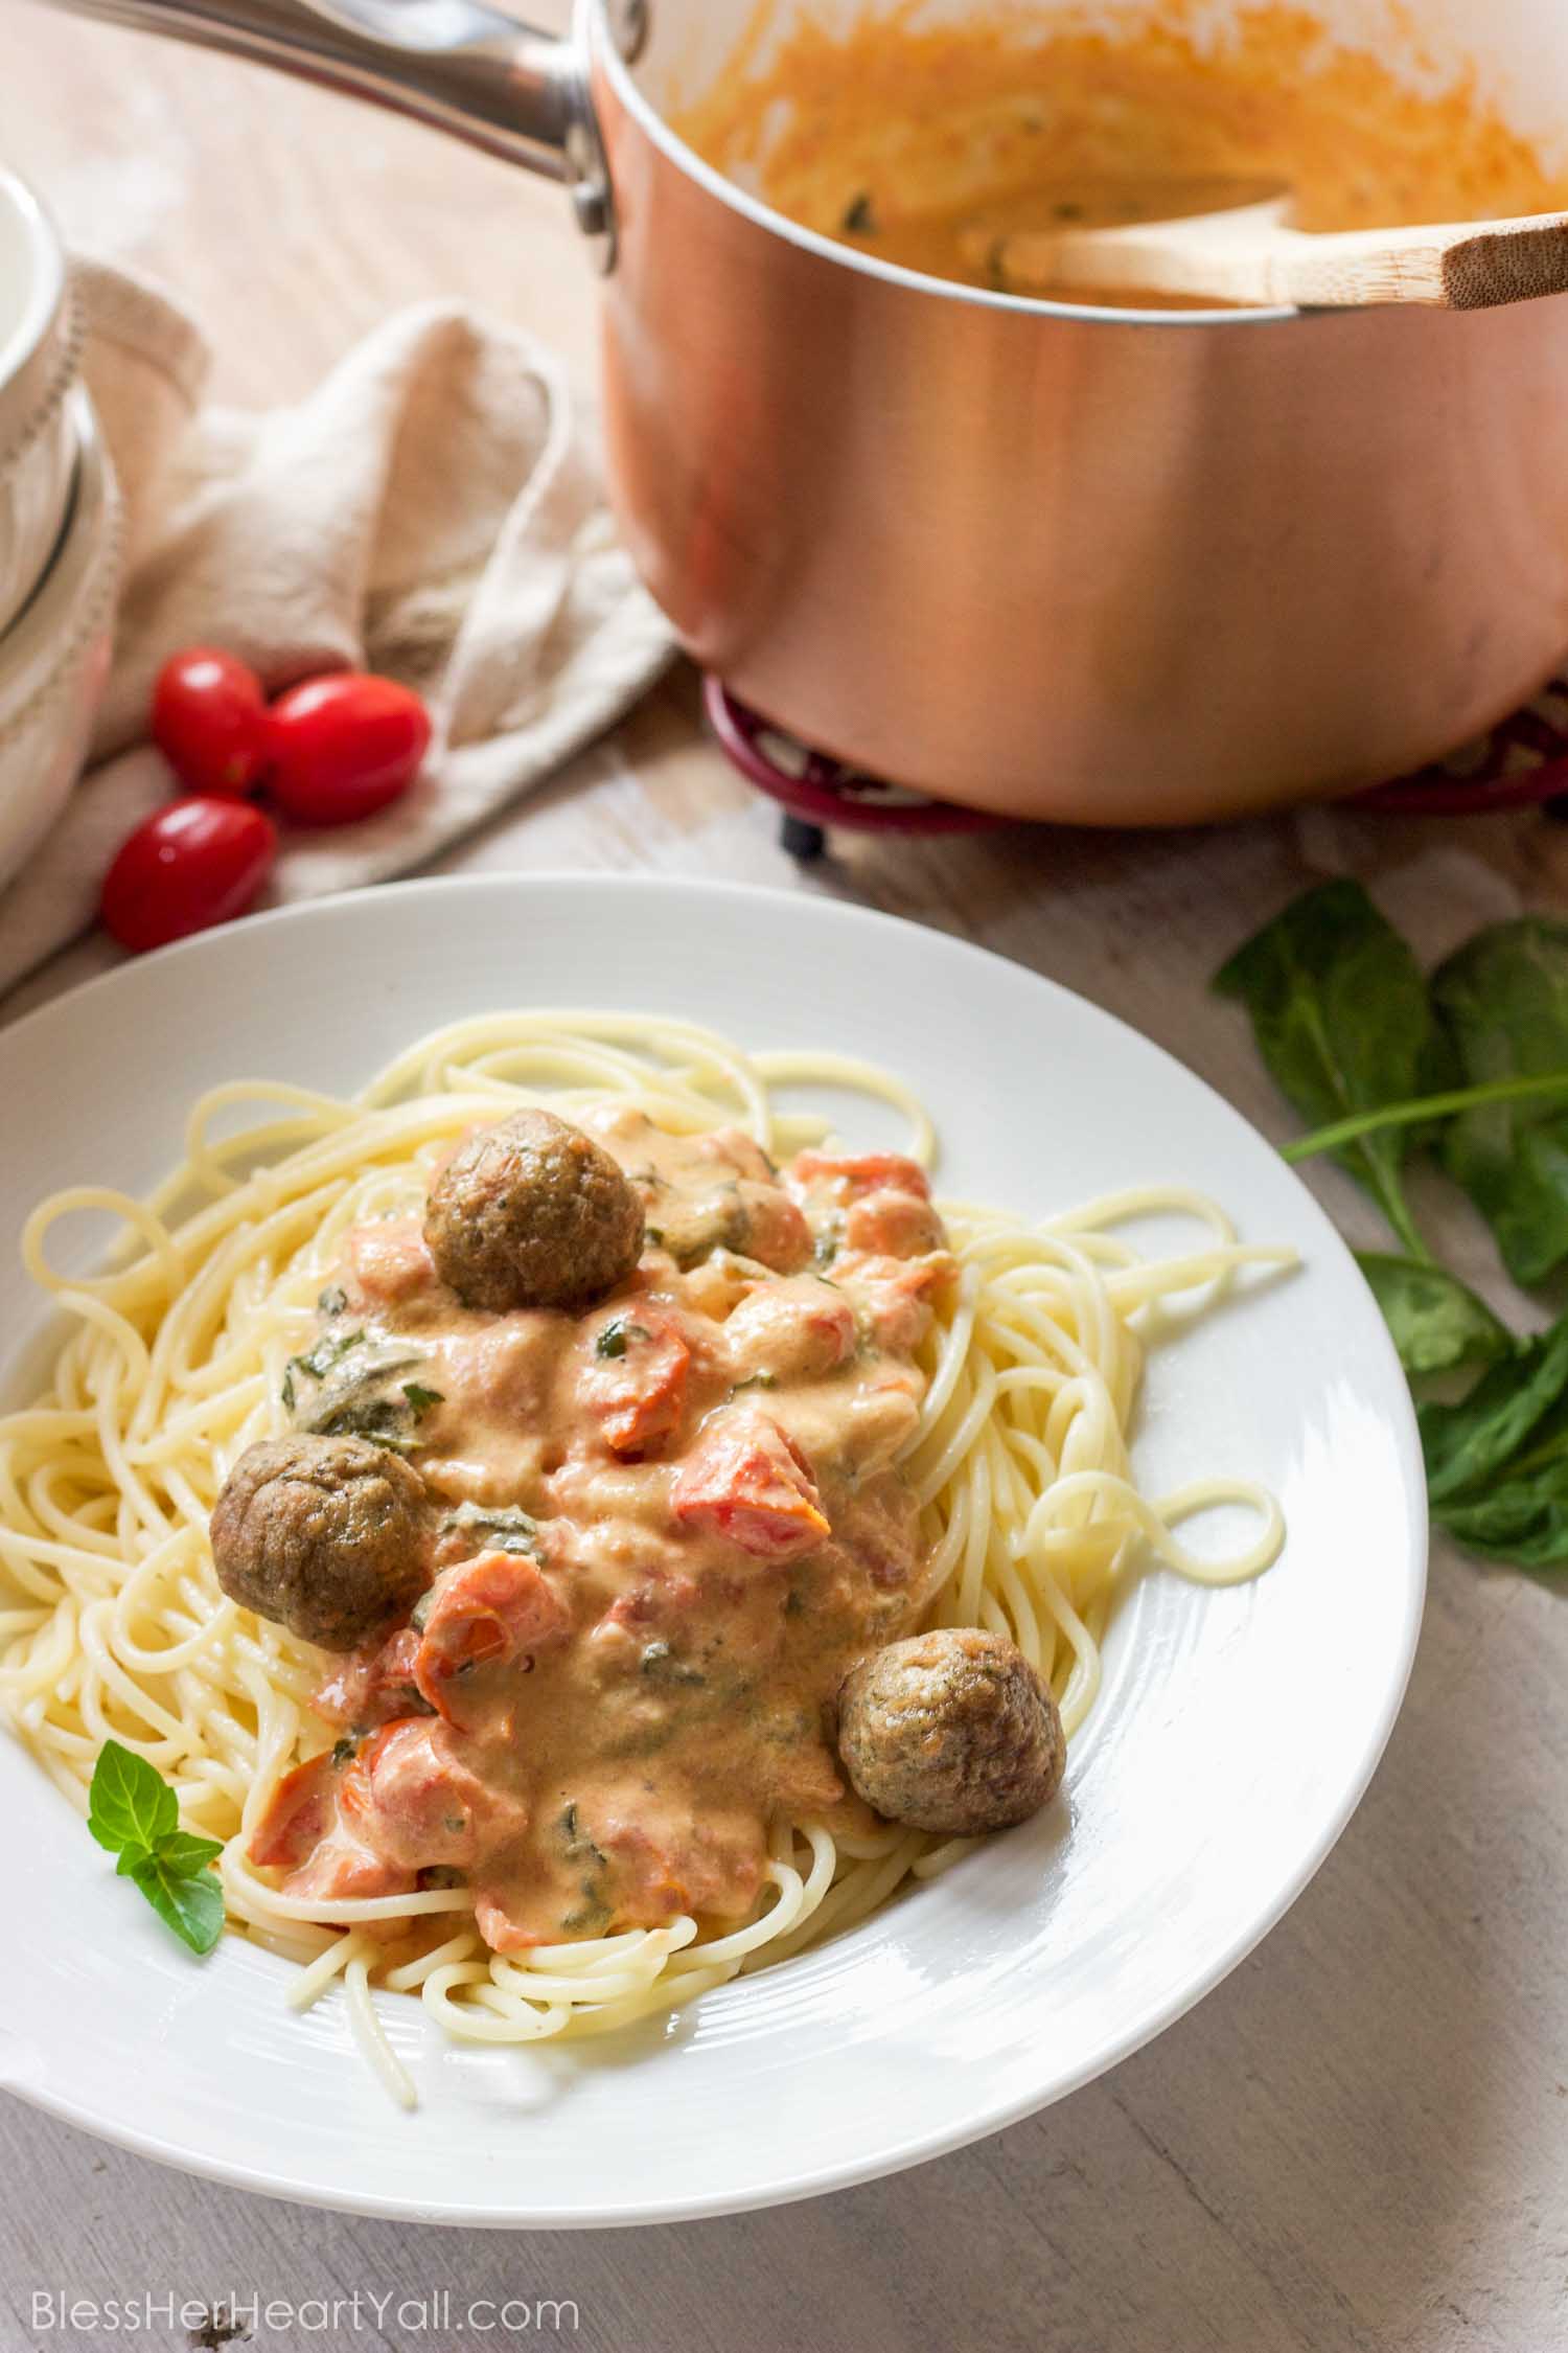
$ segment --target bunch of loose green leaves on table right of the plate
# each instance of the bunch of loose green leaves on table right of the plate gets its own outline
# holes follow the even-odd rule
[[[1248,1007],[1284,1094],[1324,1120],[1284,1158],[1335,1153],[1410,1252],[1361,1257],[1410,1379],[1486,1367],[1458,1402],[1418,1409],[1432,1518],[1472,1553],[1563,1569],[1568,1315],[1514,1339],[1434,1266],[1403,1162],[1436,1148],[1514,1280],[1542,1282],[1568,1261],[1568,925],[1490,925],[1420,984],[1422,1007],[1413,974],[1415,955],[1361,885],[1331,882],[1258,932],[1215,986]]]

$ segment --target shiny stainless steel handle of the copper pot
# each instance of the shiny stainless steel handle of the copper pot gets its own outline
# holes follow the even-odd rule
[[[578,226],[614,259],[604,148],[571,40],[480,0],[49,0],[75,16],[190,40],[414,115],[559,179]]]

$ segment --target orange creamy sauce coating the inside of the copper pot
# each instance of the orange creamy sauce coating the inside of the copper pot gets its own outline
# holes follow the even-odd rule
[[[1056,14],[1032,38],[1016,12],[922,26],[898,5],[769,42],[769,16],[675,129],[802,226],[931,278],[1011,292],[1011,231],[1147,219],[1204,179],[1286,181],[1295,226],[1316,231],[1568,207],[1568,176],[1474,75],[1410,87],[1291,7],[1220,42],[1180,5],[1114,33]]]

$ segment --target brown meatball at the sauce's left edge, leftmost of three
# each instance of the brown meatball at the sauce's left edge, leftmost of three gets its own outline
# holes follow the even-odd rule
[[[266,1438],[212,1508],[230,1600],[322,1649],[357,1649],[430,1584],[425,1489],[367,1438]]]

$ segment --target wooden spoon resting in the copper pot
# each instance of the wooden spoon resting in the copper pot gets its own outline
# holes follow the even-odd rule
[[[1133,207],[1124,195],[1119,212]],[[1086,209],[1105,209],[1091,198]],[[1537,294],[1568,294],[1568,214],[1521,221],[1450,221],[1316,235],[1291,228],[1291,193],[1258,184],[1171,184],[1145,191],[1131,226],[976,226],[964,254],[1018,294],[1182,296],[1246,308],[1363,308],[1415,301],[1493,311]],[[1058,207],[1058,214],[1063,207]]]

